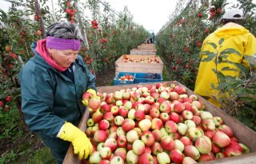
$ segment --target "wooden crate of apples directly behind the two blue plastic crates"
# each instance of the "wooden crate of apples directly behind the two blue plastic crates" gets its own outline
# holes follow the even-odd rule
[[[159,58],[159,63],[136,63],[136,62],[122,62],[123,58],[156,58],[158,55],[153,54],[123,54],[115,62],[115,75],[119,72],[134,72],[134,73],[157,73],[162,74],[163,63]]]

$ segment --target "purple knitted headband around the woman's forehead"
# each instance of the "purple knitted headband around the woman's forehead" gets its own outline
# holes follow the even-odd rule
[[[77,39],[46,37],[46,48],[55,50],[80,50],[81,42]]]

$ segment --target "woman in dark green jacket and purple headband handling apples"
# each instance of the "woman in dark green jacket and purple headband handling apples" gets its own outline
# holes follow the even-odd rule
[[[95,77],[78,55],[81,43],[77,25],[56,22],[45,39],[32,43],[34,57],[19,74],[26,124],[38,132],[58,163],[70,142],[80,159],[92,152],[90,140],[76,127],[85,110],[82,94],[96,96]]]

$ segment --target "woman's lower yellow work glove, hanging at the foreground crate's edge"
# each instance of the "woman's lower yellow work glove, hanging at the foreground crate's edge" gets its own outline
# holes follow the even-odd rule
[[[91,145],[90,140],[86,137],[86,134],[70,122],[65,122],[58,138],[72,142],[74,146],[74,154],[78,154],[80,160],[82,158],[87,158],[88,155],[92,153],[93,146]]]

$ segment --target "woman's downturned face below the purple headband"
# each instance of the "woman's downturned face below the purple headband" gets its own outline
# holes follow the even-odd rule
[[[54,50],[48,49],[51,58],[62,67],[70,67],[78,56],[79,50]]]

